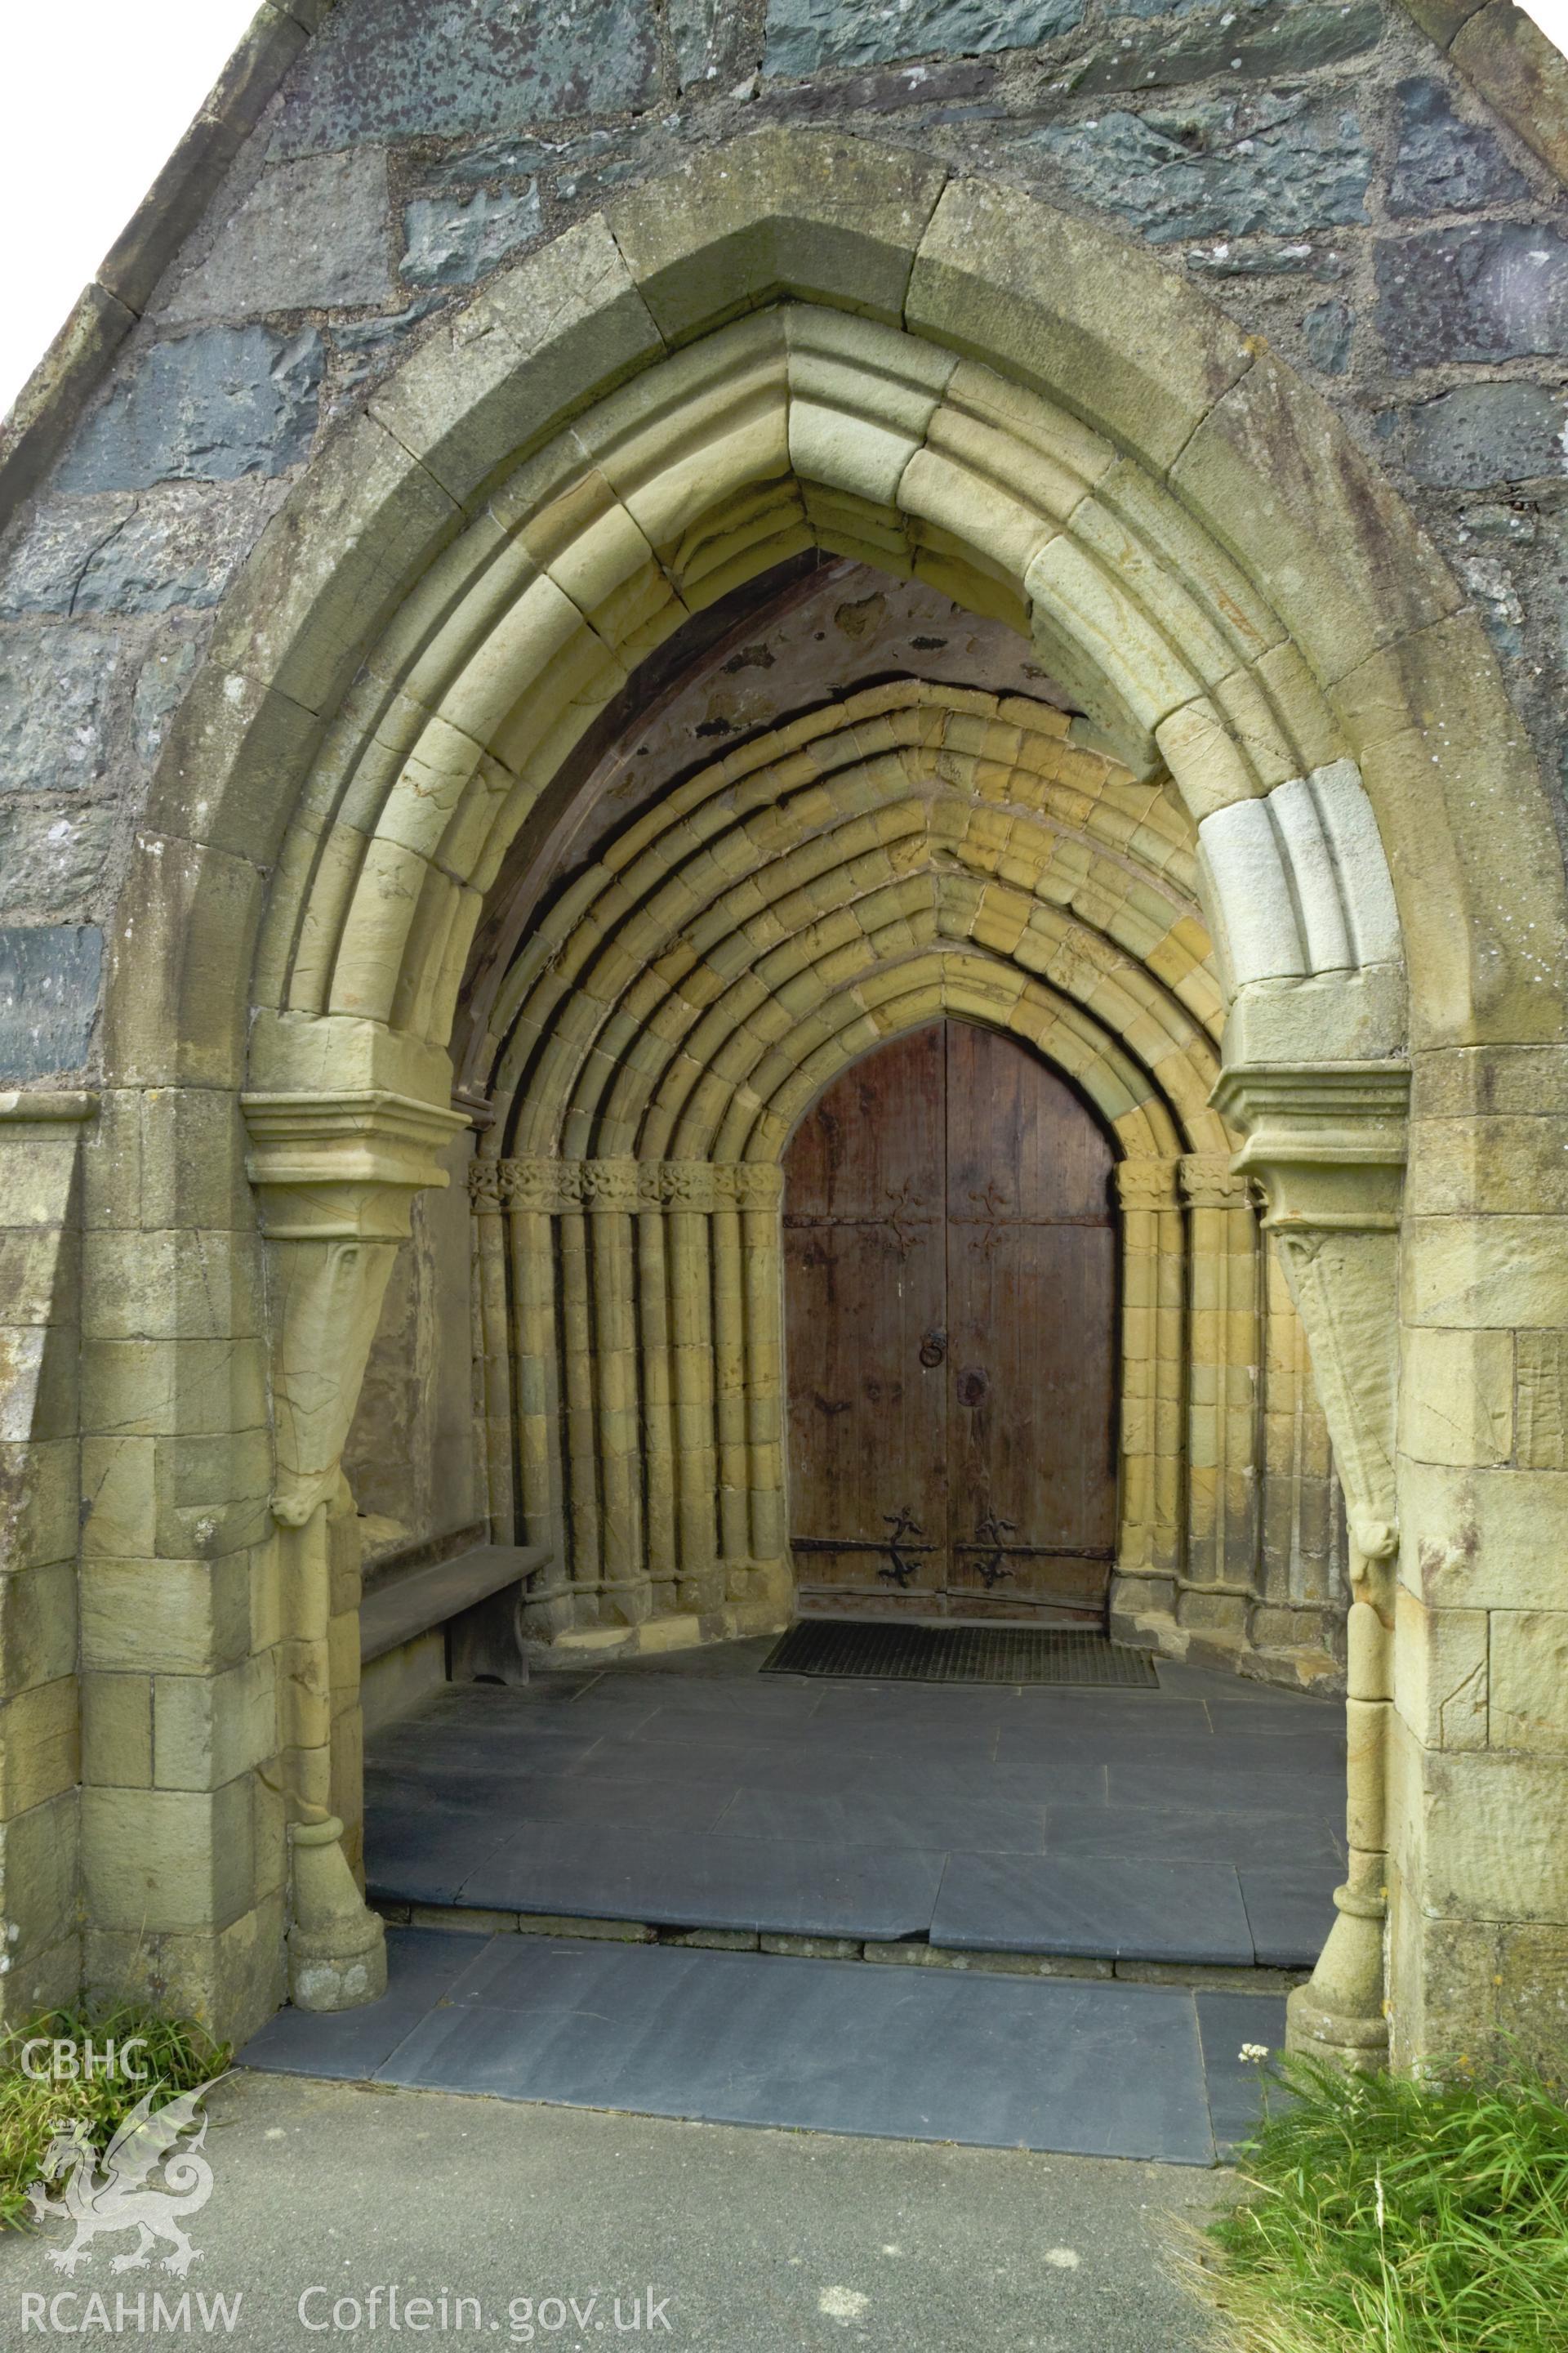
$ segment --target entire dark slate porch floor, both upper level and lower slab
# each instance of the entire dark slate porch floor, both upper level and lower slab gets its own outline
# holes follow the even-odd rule
[[[1204,1969],[1314,1958],[1342,1708],[1171,1666],[1157,1692],[759,1678],[769,1647],[454,1687],[376,1734],[369,1887],[411,1915],[388,1932],[390,1991],[339,2017],[284,2009],[244,2064],[1222,2155],[1258,2111],[1241,2045],[1281,2042],[1284,1998],[1279,1979]],[[494,1932],[496,1913],[534,1932]],[[1187,1984],[1147,1981],[1182,1967]]]

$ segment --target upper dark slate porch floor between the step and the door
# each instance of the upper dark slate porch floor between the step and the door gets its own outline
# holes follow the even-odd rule
[[[1100,1962],[1309,1967],[1345,1711],[1159,1689],[759,1675],[771,1645],[451,1685],[367,1744],[381,1906]]]

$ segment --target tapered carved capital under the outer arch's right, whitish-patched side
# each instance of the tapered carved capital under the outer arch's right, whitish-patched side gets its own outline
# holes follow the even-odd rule
[[[1361,1558],[1396,1548],[1399,1200],[1410,1073],[1399,1061],[1225,1071],[1213,1101],[1244,1132],[1237,1169],[1307,1329]]]

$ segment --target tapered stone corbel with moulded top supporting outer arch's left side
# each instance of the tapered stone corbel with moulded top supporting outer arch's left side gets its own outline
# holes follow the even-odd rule
[[[268,1254],[273,1515],[329,1501],[414,1195],[444,1186],[468,1115],[374,1089],[247,1094],[247,1172]]]

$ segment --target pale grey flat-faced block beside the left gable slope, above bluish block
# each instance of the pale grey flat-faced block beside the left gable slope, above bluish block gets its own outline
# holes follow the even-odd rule
[[[386,155],[310,155],[266,172],[174,289],[162,318],[263,318],[386,301],[393,292]]]

